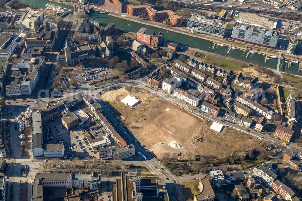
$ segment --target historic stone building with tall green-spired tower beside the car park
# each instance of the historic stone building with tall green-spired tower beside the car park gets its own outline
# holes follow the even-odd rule
[[[69,41],[64,46],[56,58],[58,64],[62,66],[75,66],[79,63],[88,63],[89,58],[95,56],[95,50],[88,43],[77,46],[74,42]]]

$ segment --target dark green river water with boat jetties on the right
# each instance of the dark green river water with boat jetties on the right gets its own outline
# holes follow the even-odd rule
[[[59,4],[59,3],[48,1],[48,0],[21,0],[21,2],[31,4],[31,5],[40,7],[40,8],[46,8],[45,4],[47,4],[47,3],[54,3],[56,5],[60,5],[64,8],[69,8],[69,9],[73,10],[72,6]],[[157,28],[157,27],[153,27],[153,26],[149,26],[149,25],[145,25],[145,24],[140,24],[138,22],[133,22],[133,21],[129,21],[127,19],[117,18],[117,17],[107,15],[107,14],[101,14],[99,12],[92,12],[91,14],[89,14],[89,16],[91,19],[101,21],[102,24],[108,24],[108,23],[112,22],[115,24],[116,28],[127,30],[130,32],[137,32],[138,30],[140,30],[141,27],[150,28],[150,29],[156,30],[157,32],[161,31],[163,34],[165,34],[165,39],[181,43],[182,45],[185,45],[185,46],[201,49],[201,50],[204,50],[207,52],[212,52],[212,53],[220,54],[223,56],[228,56],[228,57],[231,57],[234,59],[242,60],[244,62],[258,63],[261,66],[268,67],[268,68],[275,69],[275,70],[277,68],[278,59],[270,58],[268,60],[268,62],[265,63],[264,62],[265,56],[261,55],[261,54],[249,54],[249,57],[246,58],[246,56],[245,56],[246,53],[239,49],[234,49],[231,51],[231,53],[226,52],[227,49],[229,48],[227,46],[223,47],[223,46],[216,45],[214,49],[211,49],[211,46],[213,46],[213,43],[208,40],[201,39],[201,38],[196,38],[196,37],[188,36],[185,34],[176,33],[173,31],[169,31],[169,30],[165,30],[165,29],[161,29],[161,28]],[[283,59],[281,59],[280,66],[281,66],[280,69],[284,72],[289,72],[289,73],[292,73],[295,75],[302,75],[302,71],[298,70],[298,63],[292,63],[291,68],[287,69],[287,68],[285,68],[285,66],[287,66],[287,63],[285,63],[285,61]]]

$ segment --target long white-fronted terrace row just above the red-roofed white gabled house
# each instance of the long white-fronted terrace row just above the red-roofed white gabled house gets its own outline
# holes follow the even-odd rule
[[[249,107],[252,110],[255,110],[256,112],[259,112],[262,116],[265,116],[268,120],[271,120],[275,115],[274,111],[269,110],[268,108],[262,106],[261,104],[257,103],[257,101],[250,100],[249,98],[245,97],[244,94],[238,96],[236,100],[239,103],[245,105],[246,107]]]

